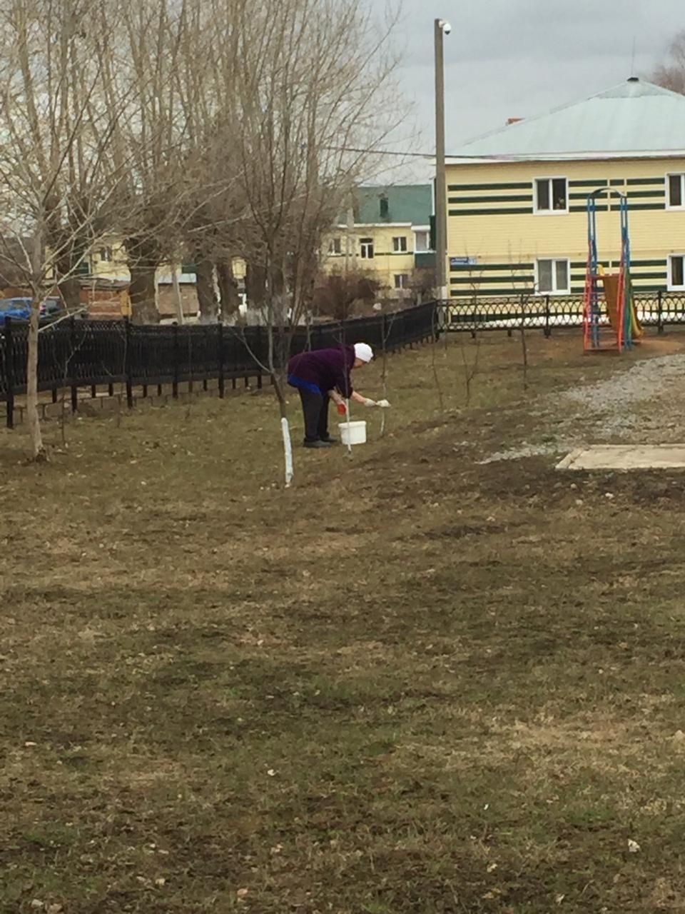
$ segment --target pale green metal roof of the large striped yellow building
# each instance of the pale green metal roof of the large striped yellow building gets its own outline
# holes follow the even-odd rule
[[[658,157],[685,151],[685,96],[632,77],[451,150],[448,161]]]

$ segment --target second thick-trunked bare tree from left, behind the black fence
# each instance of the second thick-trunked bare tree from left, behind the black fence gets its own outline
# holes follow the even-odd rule
[[[142,323],[158,319],[157,268],[181,251],[196,259],[194,232],[205,200],[216,193],[205,161],[216,111],[210,13],[201,0],[131,0],[116,39],[139,104],[136,117],[116,125],[111,153],[132,159],[114,203],[127,212],[121,230],[132,316]],[[109,40],[102,37],[102,49]]]

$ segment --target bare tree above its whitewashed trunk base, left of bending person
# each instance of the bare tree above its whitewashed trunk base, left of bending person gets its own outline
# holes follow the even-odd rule
[[[393,24],[375,27],[364,0],[266,0],[238,11],[239,130],[235,116],[226,120],[238,140],[248,262],[264,277],[268,369],[284,436],[285,367],[311,303],[322,239],[363,174],[366,151],[398,116],[386,96]]]

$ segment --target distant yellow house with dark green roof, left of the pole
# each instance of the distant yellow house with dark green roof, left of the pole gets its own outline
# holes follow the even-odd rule
[[[326,239],[323,270],[364,272],[389,297],[404,297],[432,275],[429,184],[362,186]]]

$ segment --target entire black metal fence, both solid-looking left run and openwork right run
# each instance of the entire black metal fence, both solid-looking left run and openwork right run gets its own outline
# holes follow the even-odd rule
[[[685,292],[638,292],[638,318],[659,333],[669,324],[685,324]],[[292,353],[342,343],[366,342],[376,351],[395,352],[429,340],[438,331],[516,328],[543,330],[580,327],[583,300],[579,295],[517,295],[509,298],[452,299],[447,306],[428,302],[394,314],[377,314],[343,323],[299,327],[292,337]],[[0,401],[6,421],[14,424],[16,396],[26,392],[26,334],[24,323],[7,320],[0,326]],[[224,396],[227,381],[257,378],[262,384],[269,364],[269,336],[261,326],[137,326],[129,321],[69,319],[41,329],[38,337],[38,388],[70,390],[71,408],[78,409],[79,388],[126,388],[129,406],[133,388],[171,385],[178,395],[181,382],[216,380]]]

